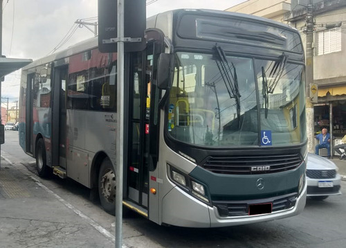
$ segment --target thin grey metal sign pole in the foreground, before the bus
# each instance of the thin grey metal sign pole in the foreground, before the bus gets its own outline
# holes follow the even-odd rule
[[[124,163],[124,3],[118,0],[117,89],[118,123],[116,129],[116,248],[122,247],[122,175]]]

